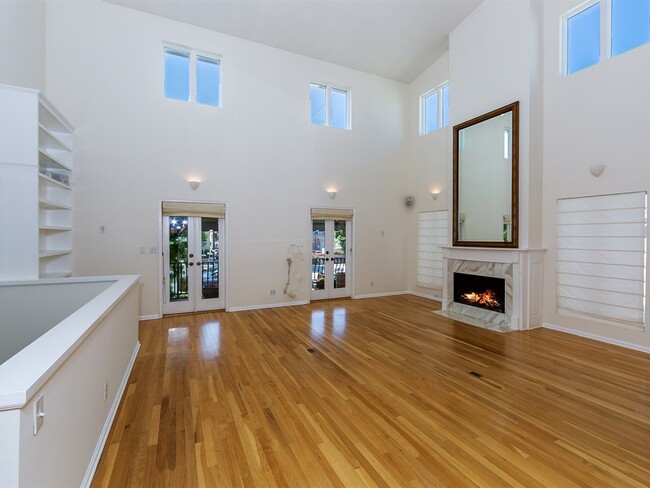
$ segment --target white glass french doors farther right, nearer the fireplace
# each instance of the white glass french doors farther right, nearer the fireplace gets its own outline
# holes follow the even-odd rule
[[[350,296],[352,222],[312,220],[311,299]]]

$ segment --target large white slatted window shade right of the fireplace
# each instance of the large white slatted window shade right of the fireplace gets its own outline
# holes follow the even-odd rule
[[[646,193],[558,200],[557,307],[645,325]]]

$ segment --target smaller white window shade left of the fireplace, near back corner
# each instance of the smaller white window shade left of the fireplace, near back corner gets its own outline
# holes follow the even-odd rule
[[[447,210],[420,212],[418,217],[418,270],[416,283],[424,288],[442,287],[442,249],[448,243]]]

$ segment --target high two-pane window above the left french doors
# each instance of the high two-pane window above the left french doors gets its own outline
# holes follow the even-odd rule
[[[165,46],[164,96],[221,106],[221,60],[190,48]]]

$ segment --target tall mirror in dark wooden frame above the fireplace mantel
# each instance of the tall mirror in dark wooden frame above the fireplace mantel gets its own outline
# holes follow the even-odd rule
[[[519,102],[454,127],[453,245],[517,247]]]

